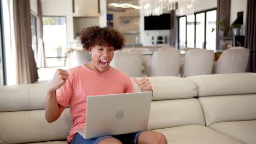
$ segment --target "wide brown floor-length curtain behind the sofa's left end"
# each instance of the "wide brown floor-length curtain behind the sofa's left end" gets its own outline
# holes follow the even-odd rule
[[[30,0],[13,0],[13,9],[18,84],[33,83],[38,73],[32,50]]]

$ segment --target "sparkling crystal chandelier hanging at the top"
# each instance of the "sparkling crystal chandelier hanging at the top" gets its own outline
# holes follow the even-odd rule
[[[164,9],[176,9],[177,15],[191,15],[194,14],[196,2],[197,0],[140,0],[144,16],[161,15]],[[178,7],[176,3],[178,3]]]

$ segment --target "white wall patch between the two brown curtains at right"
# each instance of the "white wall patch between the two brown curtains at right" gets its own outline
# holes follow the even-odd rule
[[[230,26],[237,18],[237,12],[243,11],[243,25],[241,26],[241,35],[245,35],[247,0],[231,0],[230,8]]]

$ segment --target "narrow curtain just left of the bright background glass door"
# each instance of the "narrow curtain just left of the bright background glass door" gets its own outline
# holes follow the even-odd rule
[[[43,15],[42,15],[42,4],[40,0],[37,0],[37,32],[38,32],[38,50],[37,50],[37,68],[45,68],[45,49],[43,41]]]

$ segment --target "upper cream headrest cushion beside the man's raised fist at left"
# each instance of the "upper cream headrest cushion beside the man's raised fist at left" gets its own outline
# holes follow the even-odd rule
[[[0,112],[44,109],[48,83],[0,87]]]

